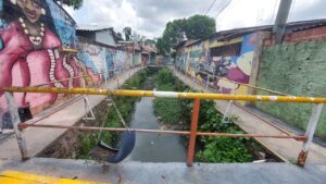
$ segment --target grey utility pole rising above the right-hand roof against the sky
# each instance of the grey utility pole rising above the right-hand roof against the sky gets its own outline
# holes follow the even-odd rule
[[[275,44],[280,44],[286,30],[292,0],[280,0],[273,33],[275,34]]]

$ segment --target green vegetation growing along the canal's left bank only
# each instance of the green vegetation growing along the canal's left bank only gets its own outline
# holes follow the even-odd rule
[[[140,89],[145,79],[152,75],[153,70],[143,69],[135,74],[133,77],[127,79],[123,85],[123,89]],[[129,122],[131,114],[134,112],[135,102],[139,98],[137,97],[114,97],[113,100],[116,103],[122,116],[126,122]],[[105,109],[106,110],[106,109]],[[104,127],[122,127],[123,124],[118,119],[118,115],[113,107],[110,107],[106,118],[104,118]],[[98,126],[102,126],[103,122],[99,122]],[[121,133],[118,132],[102,132],[100,139],[104,140],[110,145],[116,145],[118,142]],[[90,159],[90,151],[98,143],[98,132],[82,132],[78,135],[80,143],[79,152],[74,156],[76,159]]]

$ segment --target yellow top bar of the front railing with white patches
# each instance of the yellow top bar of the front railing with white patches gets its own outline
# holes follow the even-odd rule
[[[10,93],[53,93],[53,94],[85,94],[85,95],[129,96],[129,97],[166,97],[166,98],[212,99],[212,100],[326,103],[326,98],[324,97],[227,95],[227,94],[212,94],[212,93],[176,93],[176,91],[154,91],[154,90],[109,90],[109,89],[82,88],[82,87],[75,87],[75,88],[3,87],[3,90]]]

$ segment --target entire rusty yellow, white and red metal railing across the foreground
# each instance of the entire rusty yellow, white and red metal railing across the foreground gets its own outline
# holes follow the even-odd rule
[[[269,138],[294,138],[299,142],[304,142],[301,152],[298,157],[298,164],[304,165],[309,149],[312,144],[312,137],[316,130],[317,122],[321,116],[323,105],[326,103],[326,98],[315,97],[294,97],[294,96],[256,96],[256,95],[225,95],[211,93],[175,93],[175,91],[153,91],[153,90],[109,90],[96,88],[47,88],[47,87],[4,87],[5,97],[10,107],[11,119],[14,125],[16,139],[20,146],[22,159],[28,158],[26,143],[22,136],[21,130],[30,127],[49,127],[49,128],[74,128],[89,131],[124,131],[125,128],[115,127],[89,127],[89,126],[63,126],[63,125],[45,125],[45,124],[20,124],[17,108],[14,102],[12,93],[54,93],[54,94],[84,94],[84,95],[104,95],[104,96],[130,96],[130,97],[166,97],[193,99],[193,110],[191,118],[191,130],[187,131],[159,131],[159,130],[139,130],[140,133],[160,133],[160,134],[180,134],[189,135],[189,147],[187,156],[187,165],[191,167],[193,162],[195,143],[198,135],[201,136],[228,136],[228,137],[269,137]],[[197,132],[197,123],[200,110],[201,99],[214,100],[247,100],[247,101],[273,101],[273,102],[305,102],[315,103],[311,115],[305,135],[261,135],[261,134],[228,134],[228,133],[201,133]]]

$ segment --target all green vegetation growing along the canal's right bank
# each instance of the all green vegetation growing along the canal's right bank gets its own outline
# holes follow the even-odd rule
[[[156,75],[156,86],[158,90],[190,90],[165,68],[160,70]],[[160,116],[162,123],[172,124],[173,128],[189,130],[192,100],[174,98],[156,98],[154,100],[155,114]],[[222,119],[223,114],[215,109],[214,101],[201,100],[199,132],[244,133],[233,123],[222,123]],[[179,122],[183,126],[179,126]],[[178,125],[174,126],[177,123]],[[188,138],[188,136],[185,137]],[[198,138],[197,145],[200,147],[196,155],[197,160],[202,162],[248,162],[255,158],[254,151],[262,149],[252,139],[243,137],[201,136]]]

